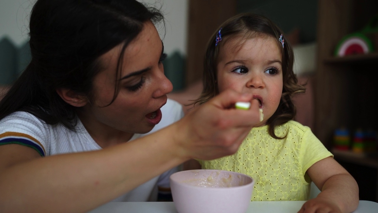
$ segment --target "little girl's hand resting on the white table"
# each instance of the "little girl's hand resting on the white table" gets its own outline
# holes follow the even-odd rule
[[[305,202],[298,213],[342,213],[342,211],[331,200],[324,197],[316,197]]]

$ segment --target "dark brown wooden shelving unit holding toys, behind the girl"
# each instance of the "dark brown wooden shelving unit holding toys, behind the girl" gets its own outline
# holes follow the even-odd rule
[[[344,57],[333,55],[340,39],[366,26],[377,13],[376,8],[377,0],[319,1],[314,133],[330,150],[333,133],[341,125],[349,129],[378,128],[378,105],[374,102],[378,97],[374,72],[378,50]],[[331,152],[357,181],[360,198],[377,202],[377,155]]]

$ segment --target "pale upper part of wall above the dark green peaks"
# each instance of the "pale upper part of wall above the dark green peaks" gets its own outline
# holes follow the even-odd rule
[[[162,9],[166,18],[166,52],[179,51],[186,55],[186,26],[188,0],[139,0],[147,5]],[[0,39],[7,36],[15,45],[20,46],[28,40],[28,23],[34,0],[0,1]]]

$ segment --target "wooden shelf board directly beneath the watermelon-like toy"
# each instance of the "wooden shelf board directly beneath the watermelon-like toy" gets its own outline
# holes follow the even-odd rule
[[[350,63],[368,63],[369,61],[377,61],[378,60],[378,52],[368,53],[368,54],[361,54],[361,55],[348,55],[343,57],[330,57],[325,58],[325,64],[350,64]]]

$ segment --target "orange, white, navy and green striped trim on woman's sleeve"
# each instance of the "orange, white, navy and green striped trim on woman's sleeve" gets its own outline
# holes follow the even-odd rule
[[[20,144],[35,149],[42,157],[45,157],[45,148],[41,143],[30,135],[19,132],[5,132],[0,134],[0,145]]]

